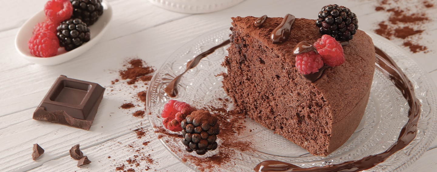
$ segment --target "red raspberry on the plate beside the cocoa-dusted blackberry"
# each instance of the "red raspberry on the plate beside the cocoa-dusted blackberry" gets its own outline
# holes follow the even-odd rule
[[[161,112],[164,127],[173,132],[182,131],[180,121],[184,120],[187,115],[190,115],[193,110],[194,109],[185,102],[176,100],[168,101]]]

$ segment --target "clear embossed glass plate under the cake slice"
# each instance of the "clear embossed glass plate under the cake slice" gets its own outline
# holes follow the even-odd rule
[[[197,67],[188,71],[178,85],[179,94],[176,98],[168,97],[163,88],[173,78],[185,70],[187,62],[196,55],[222,43],[229,38],[229,27],[204,34],[175,51],[163,66],[156,71],[150,84],[146,107],[151,112],[149,120],[154,127],[163,126],[160,112],[163,105],[170,99],[185,101],[196,107],[222,107],[219,98],[229,98],[222,89],[222,77],[215,77],[226,71],[222,61],[227,55],[226,47],[216,50],[213,54],[201,60]],[[416,96],[422,103],[421,118],[416,138],[406,148],[396,152],[385,162],[366,170],[372,172],[402,171],[416,161],[429,147],[436,136],[436,89],[427,72],[424,72],[410,55],[390,41],[376,34],[369,33],[375,46],[390,55],[402,71],[413,82]],[[229,98],[230,99],[230,98]],[[228,103],[232,108],[232,102]],[[253,167],[264,160],[279,160],[302,167],[324,166],[349,160],[361,159],[367,155],[374,155],[390,147],[406,124],[409,106],[400,91],[392,81],[375,69],[370,98],[364,117],[354,134],[335,152],[326,157],[314,156],[305,149],[295,145],[280,135],[274,134],[256,122],[246,119],[245,125],[251,132],[239,135],[242,140],[254,140],[253,148],[256,152],[237,152],[233,160],[224,162],[220,167],[213,167],[209,171],[223,172],[252,172]],[[256,128],[256,129],[253,129]],[[156,128],[155,128],[156,129]],[[186,151],[174,151],[175,148],[184,150],[184,145],[169,137],[160,138],[163,145],[179,160],[185,155],[192,155]],[[269,147],[265,146],[269,142]],[[218,147],[220,148],[220,146]],[[173,149],[173,151],[172,151]],[[214,151],[211,151],[214,152]],[[207,155],[211,155],[207,152]],[[193,162],[181,160],[195,171],[199,171]],[[208,171],[208,169],[206,169]]]

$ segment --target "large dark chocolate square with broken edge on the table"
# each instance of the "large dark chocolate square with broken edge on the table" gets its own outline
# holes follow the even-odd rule
[[[33,113],[33,119],[89,130],[105,88],[61,75]]]

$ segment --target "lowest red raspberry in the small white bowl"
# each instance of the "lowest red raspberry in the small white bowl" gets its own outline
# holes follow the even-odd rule
[[[36,57],[52,57],[58,53],[59,40],[51,31],[42,31],[34,34],[29,42],[30,53]]]

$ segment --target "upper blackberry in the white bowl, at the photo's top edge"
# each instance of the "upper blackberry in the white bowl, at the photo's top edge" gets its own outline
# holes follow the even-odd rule
[[[73,5],[71,18],[79,18],[91,26],[103,14],[102,0],[70,0]]]

